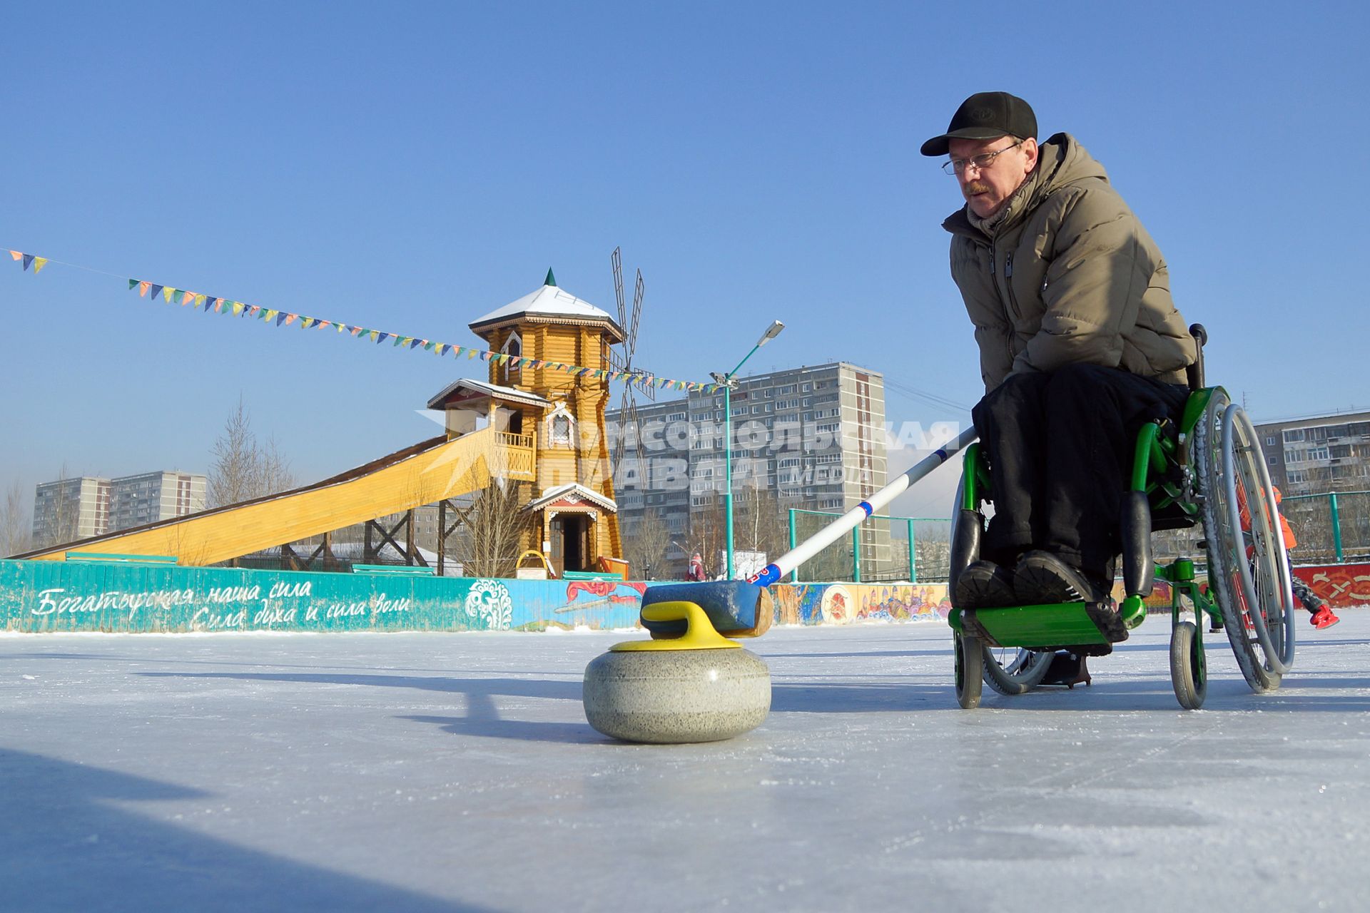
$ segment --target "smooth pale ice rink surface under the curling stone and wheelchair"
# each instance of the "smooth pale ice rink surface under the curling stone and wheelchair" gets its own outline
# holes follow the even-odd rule
[[[1148,620],[956,708],[936,623],[774,628],[741,738],[615,743],[619,634],[0,639],[5,910],[1311,910],[1370,888],[1370,610],[1201,712]],[[637,635],[630,635],[637,636]]]

